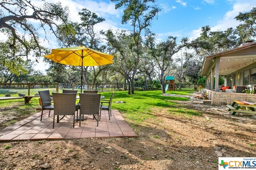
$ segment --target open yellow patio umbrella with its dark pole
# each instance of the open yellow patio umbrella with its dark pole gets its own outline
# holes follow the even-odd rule
[[[83,66],[102,66],[110,63],[114,55],[102,53],[85,46],[52,49],[52,53],[44,57],[60,64],[81,66],[81,93],[83,80]]]

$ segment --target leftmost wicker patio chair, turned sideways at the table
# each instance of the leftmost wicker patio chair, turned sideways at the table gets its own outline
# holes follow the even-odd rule
[[[50,112],[51,110],[54,109],[52,102],[51,102],[51,96],[50,96],[50,91],[49,90],[45,90],[45,91],[38,91],[39,96],[41,98],[42,101],[42,113],[41,113],[41,119],[40,121],[42,121],[42,116],[43,116],[43,110],[50,110],[49,111],[49,115],[50,116]]]

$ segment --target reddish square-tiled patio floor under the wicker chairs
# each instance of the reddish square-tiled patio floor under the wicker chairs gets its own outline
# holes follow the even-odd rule
[[[79,127],[79,121],[75,121],[74,128],[73,116],[66,116],[59,123],[56,123],[55,118],[54,129],[52,129],[53,111],[51,111],[50,117],[48,117],[48,113],[47,110],[44,111],[42,121],[40,121],[41,112],[39,112],[2,129],[0,131],[0,141],[136,137],[135,132],[118,110],[112,110],[110,120],[108,111],[102,110],[98,127],[92,115],[81,121],[81,127]],[[86,115],[84,116],[86,118]]]

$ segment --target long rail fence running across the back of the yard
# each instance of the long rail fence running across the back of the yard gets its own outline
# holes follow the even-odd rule
[[[196,90],[202,84],[181,84],[182,90]],[[179,84],[175,84],[179,90]],[[83,84],[82,90],[98,90],[101,92],[127,90],[128,85],[123,83],[110,84]],[[11,97],[18,97],[19,94],[26,96],[35,95],[38,91],[50,90],[52,92],[62,92],[63,89],[74,90],[78,92],[81,89],[81,84],[65,84],[65,83],[2,83],[0,84],[0,97],[9,94]],[[152,83],[141,86],[134,86],[134,90],[161,90],[160,83]]]

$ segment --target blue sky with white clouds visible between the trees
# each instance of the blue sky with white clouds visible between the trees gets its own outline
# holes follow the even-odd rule
[[[58,2],[59,0],[49,0]],[[38,5],[42,2],[31,0]],[[101,29],[130,29],[130,25],[122,25],[122,9],[115,10],[115,4],[110,0],[62,0],[63,6],[70,8],[72,21],[80,21],[78,12],[87,8],[103,17],[106,21],[96,25],[96,30]],[[200,28],[206,25],[212,27],[212,31],[226,30],[228,27],[236,27],[239,23],[234,17],[239,12],[249,12],[256,7],[256,0],[158,0],[156,4],[162,8],[158,20],[152,22],[151,31],[158,35],[158,41],[164,41],[167,36],[176,36],[179,39],[188,37],[194,39],[200,35]],[[43,33],[43,32],[42,32]],[[42,36],[43,37],[43,36]],[[48,37],[49,48],[58,48],[56,39]],[[36,65],[36,69],[44,70],[48,66],[42,63]]]

